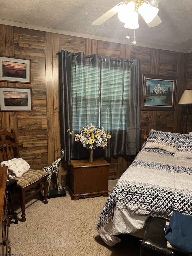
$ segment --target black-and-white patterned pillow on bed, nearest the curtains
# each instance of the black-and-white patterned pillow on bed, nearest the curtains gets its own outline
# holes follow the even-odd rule
[[[171,153],[175,153],[177,149],[177,138],[184,137],[185,134],[172,133],[165,131],[156,131],[151,129],[145,144],[146,148],[163,149]]]

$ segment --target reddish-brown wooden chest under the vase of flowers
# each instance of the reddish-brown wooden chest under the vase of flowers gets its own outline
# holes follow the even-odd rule
[[[103,158],[88,160],[71,160],[70,192],[74,200],[79,197],[95,197],[109,195],[109,163]]]

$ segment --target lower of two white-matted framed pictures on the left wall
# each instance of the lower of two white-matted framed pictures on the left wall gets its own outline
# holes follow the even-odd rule
[[[0,87],[0,111],[32,111],[31,88]]]

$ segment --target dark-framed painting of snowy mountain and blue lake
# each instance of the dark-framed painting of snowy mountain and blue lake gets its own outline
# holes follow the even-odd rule
[[[142,74],[141,110],[175,110],[177,77]]]

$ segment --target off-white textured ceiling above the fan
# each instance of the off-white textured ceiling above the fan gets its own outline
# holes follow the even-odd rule
[[[121,0],[120,0],[121,1]],[[0,23],[2,20],[20,22],[64,31],[95,35],[104,38],[134,41],[134,30],[127,29],[117,14],[99,26],[91,23],[113,8],[118,0],[0,0]],[[164,0],[163,0],[164,1]],[[137,45],[154,45],[160,49],[192,51],[192,0],[166,0],[158,13],[162,23],[149,28],[144,20],[135,30]],[[14,26],[14,23],[13,23]],[[39,29],[41,30],[41,29]]]

